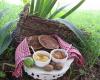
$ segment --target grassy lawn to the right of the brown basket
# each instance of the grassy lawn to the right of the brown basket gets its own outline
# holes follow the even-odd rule
[[[75,24],[80,29],[84,29],[86,32],[90,34],[88,41],[90,53],[84,51],[86,56],[86,62],[90,66],[96,62],[98,56],[100,56],[100,10],[92,11],[92,10],[76,10],[66,19]]]

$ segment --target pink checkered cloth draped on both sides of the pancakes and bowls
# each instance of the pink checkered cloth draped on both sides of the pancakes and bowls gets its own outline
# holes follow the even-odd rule
[[[53,35],[59,42],[60,48],[65,49],[68,54],[69,58],[74,58],[77,65],[84,65],[84,59],[81,55],[81,53],[72,46],[72,44],[69,44],[65,41],[63,41],[59,36]],[[26,38],[19,44],[19,46],[16,49],[15,52],[15,62],[16,62],[16,68],[13,72],[13,76],[20,77],[22,76],[22,67],[23,67],[23,59],[26,56],[31,55],[29,46],[27,43]]]

